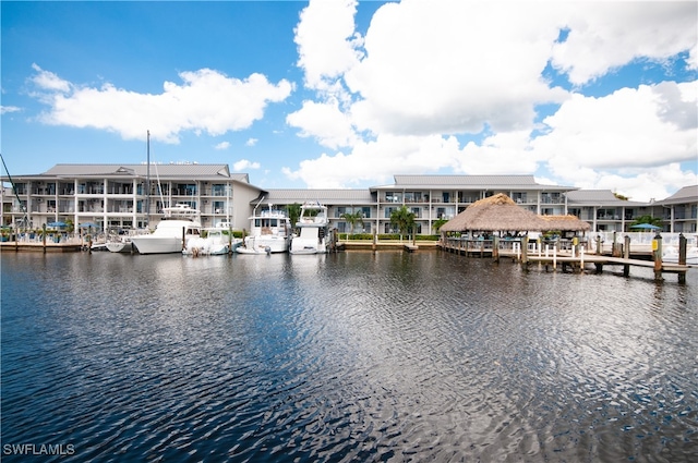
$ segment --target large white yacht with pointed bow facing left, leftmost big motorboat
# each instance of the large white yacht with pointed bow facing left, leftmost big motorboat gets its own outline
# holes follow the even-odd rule
[[[153,233],[131,237],[140,254],[181,253],[186,242],[201,235],[198,210],[188,204],[177,204],[166,207],[164,212]]]

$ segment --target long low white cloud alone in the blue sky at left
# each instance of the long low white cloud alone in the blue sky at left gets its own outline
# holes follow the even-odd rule
[[[281,80],[269,83],[262,74],[245,80],[202,69],[182,72],[182,84],[165,82],[159,95],[137,94],[106,84],[81,87],[35,66],[34,84],[50,108],[40,120],[47,124],[95,127],[141,139],[146,130],[153,139],[179,143],[183,131],[222,135],[248,129],[264,115],[269,102],[285,100],[292,86]]]

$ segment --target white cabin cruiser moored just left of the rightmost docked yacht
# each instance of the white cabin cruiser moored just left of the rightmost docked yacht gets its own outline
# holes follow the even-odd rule
[[[255,208],[256,210],[256,208]],[[287,253],[291,241],[291,223],[282,210],[263,210],[250,218],[250,235],[236,252],[239,254]]]

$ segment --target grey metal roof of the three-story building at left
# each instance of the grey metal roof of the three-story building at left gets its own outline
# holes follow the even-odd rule
[[[115,176],[129,178],[147,175],[147,165],[56,165],[44,176]],[[250,183],[246,173],[230,173],[228,165],[198,163],[151,163],[151,176],[160,179],[189,180],[233,180]]]

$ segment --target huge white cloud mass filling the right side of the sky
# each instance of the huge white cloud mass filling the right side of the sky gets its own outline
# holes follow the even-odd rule
[[[348,29],[353,2],[335,4],[341,26],[337,16],[320,24],[311,13],[321,7],[311,2],[296,39],[316,98],[287,123],[345,149],[285,168],[290,179],[344,187],[395,173],[545,168],[551,183],[655,197],[697,182],[695,81],[654,74],[645,82],[657,85],[638,80],[604,98],[585,96],[582,85],[637,60],[698,69],[695,2],[402,0],[376,11],[363,42],[348,39],[358,37]],[[555,87],[551,65],[576,88]],[[541,124],[546,103],[552,115]],[[482,141],[459,143],[466,134]]]

